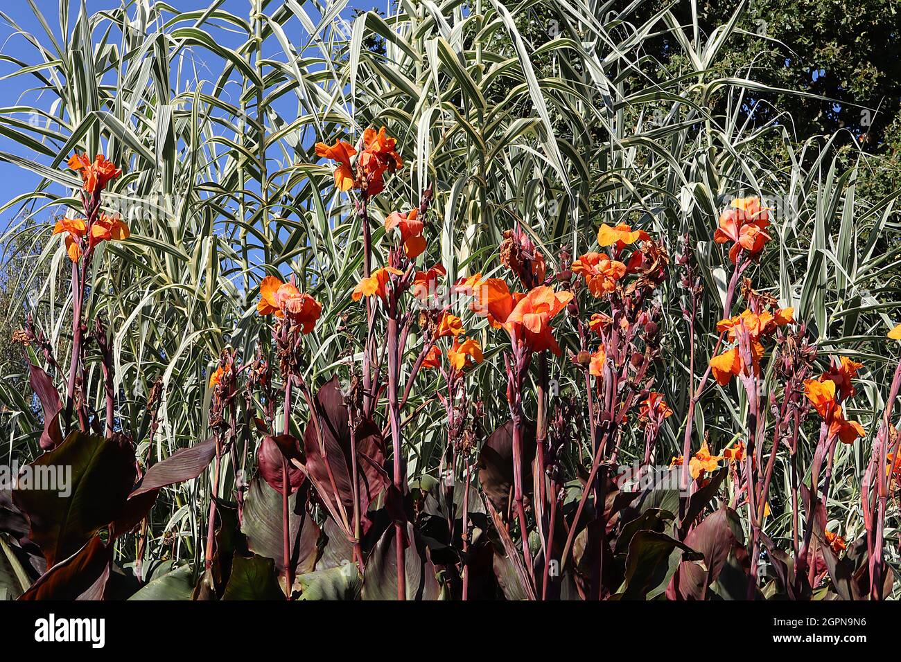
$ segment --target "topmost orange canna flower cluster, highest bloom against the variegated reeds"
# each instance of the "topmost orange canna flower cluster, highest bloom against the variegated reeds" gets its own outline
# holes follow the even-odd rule
[[[357,188],[366,195],[377,195],[385,188],[385,173],[392,173],[404,167],[404,161],[396,151],[396,140],[385,132],[383,126],[378,132],[369,128],[363,131],[363,140],[356,163],[350,159],[357,150],[345,141],[335,141],[333,145],[316,143],[316,155],[338,163],[334,169],[335,187],[339,191]]]

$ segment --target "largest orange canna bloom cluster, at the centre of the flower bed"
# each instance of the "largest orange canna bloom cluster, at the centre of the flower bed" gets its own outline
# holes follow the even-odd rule
[[[504,280],[481,280],[481,275],[460,281],[457,288],[471,292],[475,298],[473,311],[487,317],[494,328],[504,329],[515,344],[531,351],[550,349],[560,356],[551,320],[572,300],[571,292],[538,286],[525,294],[511,293]]]

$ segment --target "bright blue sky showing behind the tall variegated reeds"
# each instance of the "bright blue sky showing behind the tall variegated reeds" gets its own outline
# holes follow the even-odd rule
[[[59,39],[59,1],[58,0],[33,0],[34,5],[38,7],[43,14],[44,20],[50,25],[51,30]],[[69,2],[69,21],[75,21],[77,17],[80,0],[68,0]],[[210,5],[212,0],[168,0],[168,4],[176,7],[180,11],[192,11],[203,9]],[[86,0],[87,11],[93,14],[106,9],[121,7],[123,0]],[[132,3],[133,4],[133,3]],[[272,5],[279,5],[278,0]],[[306,3],[302,3],[306,4]],[[348,6],[344,9],[343,14],[350,16],[353,8],[372,9],[380,8],[386,11],[388,0],[350,0]],[[307,4],[308,5],[308,4]],[[250,13],[250,0],[225,0],[222,5],[225,11],[231,12],[246,18]],[[314,13],[312,7],[305,7],[311,14]],[[38,36],[41,42],[46,42],[48,37],[41,27],[41,23],[32,11],[31,6],[26,0],[12,0],[12,2],[3,3],[0,8],[11,21],[25,32],[31,32]],[[290,36],[290,32],[288,32]],[[227,39],[228,35],[224,35],[223,39]],[[7,57],[18,59],[26,63],[37,63],[41,61],[37,51],[32,45],[26,41],[21,35],[16,34],[16,30],[0,17],[0,54]],[[32,76],[8,77],[16,71],[16,67],[9,62],[0,62],[0,106],[13,106],[17,104],[34,104],[41,103],[38,96],[34,92],[29,92],[29,88],[37,83],[37,79]],[[48,97],[49,99],[49,97]],[[12,152],[24,155],[14,141],[0,134],[0,151]],[[32,172],[23,168],[10,165],[0,160],[0,181],[4,183],[2,194],[0,194],[0,204],[7,200],[12,200],[16,195],[20,195],[26,191],[32,190],[38,183],[39,177]],[[3,231],[10,221],[11,213],[6,212],[0,215],[0,231]]]

